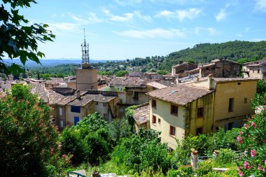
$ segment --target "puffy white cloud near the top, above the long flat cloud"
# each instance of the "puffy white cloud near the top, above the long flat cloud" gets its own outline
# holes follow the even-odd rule
[[[160,11],[155,17],[176,17],[179,19],[180,22],[182,22],[185,18],[193,19],[200,15],[202,13],[202,10],[199,8],[189,8],[187,10],[175,10],[175,11],[169,11],[169,10],[163,10]]]

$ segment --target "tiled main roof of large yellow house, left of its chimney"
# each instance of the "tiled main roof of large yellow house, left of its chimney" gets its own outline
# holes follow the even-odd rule
[[[148,95],[157,99],[172,102],[173,104],[184,106],[211,92],[214,92],[214,90],[179,84],[148,92]]]

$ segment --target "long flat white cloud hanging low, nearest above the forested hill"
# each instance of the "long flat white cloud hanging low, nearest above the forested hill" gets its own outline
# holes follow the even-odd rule
[[[185,34],[180,29],[147,29],[147,30],[128,30],[128,31],[114,31],[120,36],[128,36],[132,38],[184,38]]]

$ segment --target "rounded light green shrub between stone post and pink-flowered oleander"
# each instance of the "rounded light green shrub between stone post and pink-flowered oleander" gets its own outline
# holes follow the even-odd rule
[[[237,154],[231,149],[220,149],[219,153],[214,161],[214,167],[225,168],[232,167],[234,160],[237,158]]]

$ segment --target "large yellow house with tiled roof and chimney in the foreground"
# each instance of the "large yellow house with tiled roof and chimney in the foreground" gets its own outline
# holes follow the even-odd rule
[[[216,132],[241,127],[253,113],[251,99],[257,80],[244,78],[202,78],[148,92],[150,127],[162,132],[162,142],[175,148],[176,140],[189,134]]]

